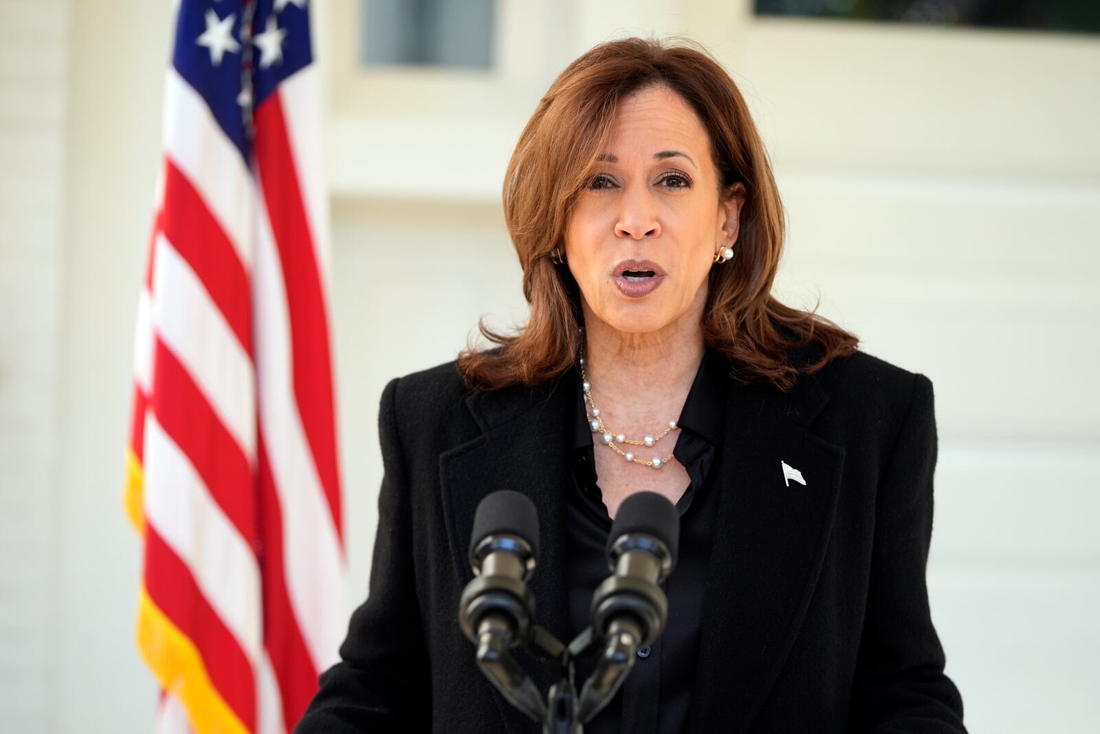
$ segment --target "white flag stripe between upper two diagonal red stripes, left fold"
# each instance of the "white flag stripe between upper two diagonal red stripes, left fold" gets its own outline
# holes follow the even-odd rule
[[[252,360],[191,266],[158,234],[153,261],[153,324],[187,368],[250,462],[256,456]]]

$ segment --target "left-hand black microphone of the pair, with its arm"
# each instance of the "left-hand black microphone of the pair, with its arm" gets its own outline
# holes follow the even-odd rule
[[[546,702],[508,653],[539,633],[527,588],[538,550],[539,517],[531,501],[510,490],[485,496],[474,515],[470,563],[475,578],[462,591],[459,625],[477,646],[477,666],[490,681],[513,705],[542,721]]]

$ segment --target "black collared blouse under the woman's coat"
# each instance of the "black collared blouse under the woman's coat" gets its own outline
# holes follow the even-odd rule
[[[691,484],[676,503],[680,551],[676,566],[661,587],[669,600],[664,632],[652,646],[638,650],[630,675],[607,706],[585,725],[586,734],[612,732],[683,732],[695,689],[700,620],[711,536],[721,487],[708,476],[722,445],[729,363],[707,348],[676,420],[680,437],[672,453],[688,470]],[[592,594],[609,574],[604,547],[612,521],[596,484],[593,434],[588,426],[580,372],[574,369],[574,437],[566,472],[566,558],[569,560],[570,639],[590,622]],[[610,451],[600,447],[601,451]],[[654,449],[656,453],[663,453]],[[637,453],[637,451],[636,451]],[[642,454],[639,454],[642,456]],[[619,457],[620,460],[624,460]],[[641,469],[639,468],[639,471]],[[661,471],[647,469],[646,471]],[[592,672],[594,659],[578,662],[578,689]]]

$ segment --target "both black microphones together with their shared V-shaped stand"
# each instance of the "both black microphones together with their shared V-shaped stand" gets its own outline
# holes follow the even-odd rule
[[[490,682],[547,733],[575,733],[615,695],[638,648],[664,629],[668,600],[658,585],[672,572],[680,516],[653,492],[630,495],[619,507],[607,543],[612,570],[592,599],[592,624],[566,647],[535,624],[535,598],[527,588],[539,551],[539,518],[526,495],[494,492],[477,505],[470,538],[474,580],[459,601],[459,625],[477,648],[477,667]],[[557,660],[559,681],[543,700],[510,650]],[[601,651],[578,699],[573,659]]]

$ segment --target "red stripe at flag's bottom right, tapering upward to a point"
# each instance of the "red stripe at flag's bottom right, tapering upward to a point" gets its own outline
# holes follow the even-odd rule
[[[306,640],[290,610],[290,596],[284,578],[283,515],[262,438],[257,453],[260,516],[264,534],[263,550],[260,554],[264,588],[264,646],[283,692],[283,719],[286,731],[290,732],[317,692],[319,671],[314,668]]]

